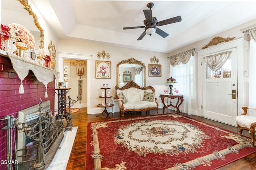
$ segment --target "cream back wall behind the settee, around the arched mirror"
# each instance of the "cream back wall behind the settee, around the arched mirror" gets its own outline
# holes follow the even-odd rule
[[[138,61],[141,61],[146,66],[146,86],[162,85],[165,86],[166,79],[169,76],[169,68],[167,64],[167,54],[154,52],[154,51],[144,51],[138,49],[130,49],[124,47],[115,47],[109,45],[102,45],[99,43],[92,43],[86,41],[74,41],[74,40],[59,40],[59,52],[60,53],[76,53],[84,55],[92,55],[91,61],[91,107],[92,113],[100,113],[101,109],[97,107],[97,104],[102,103],[102,99],[98,98],[101,96],[101,87],[103,84],[108,83],[110,86],[111,96],[115,94],[116,86],[116,64],[122,60],[127,60],[130,58],[135,58]],[[105,51],[110,54],[110,59],[98,59],[96,56],[98,52]],[[162,77],[148,77],[148,64],[150,63],[150,58],[156,56],[159,59],[158,64],[162,64]],[[95,61],[110,61],[111,62],[111,78],[110,79],[99,79],[95,78]],[[94,81],[93,81],[94,80]],[[88,80],[89,81],[89,80]],[[156,92],[158,89],[155,89]],[[161,89],[162,90],[162,89]],[[161,92],[162,93],[162,92]],[[160,94],[160,92],[158,92]],[[159,96],[157,102],[161,103]]]

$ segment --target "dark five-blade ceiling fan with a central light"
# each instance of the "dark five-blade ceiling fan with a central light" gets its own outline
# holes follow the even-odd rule
[[[158,35],[162,36],[162,37],[167,37],[169,34],[164,32],[163,30],[159,29],[159,26],[162,25],[167,25],[170,23],[175,23],[175,22],[180,22],[181,21],[181,17],[180,16],[176,16],[174,18],[169,18],[167,20],[163,20],[163,21],[159,21],[156,19],[156,17],[152,17],[152,10],[151,8],[154,6],[154,4],[152,2],[148,3],[148,8],[150,10],[143,10],[144,15],[146,20],[144,20],[144,25],[145,26],[138,26],[138,27],[124,27],[123,29],[135,29],[135,28],[145,28],[145,31],[142,33],[142,35],[140,35],[140,37],[137,40],[142,40],[142,38],[148,34],[148,35],[152,35],[154,33],[157,33]],[[158,27],[157,27],[158,26]]]

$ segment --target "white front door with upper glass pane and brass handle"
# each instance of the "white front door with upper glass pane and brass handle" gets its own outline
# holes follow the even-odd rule
[[[206,65],[203,57],[231,51],[217,71]],[[244,106],[243,38],[198,51],[198,115],[236,126],[235,117]],[[239,95],[238,95],[239,94]]]

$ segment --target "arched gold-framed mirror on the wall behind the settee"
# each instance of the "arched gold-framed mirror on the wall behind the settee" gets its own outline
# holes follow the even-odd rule
[[[116,64],[116,85],[122,87],[130,81],[146,87],[146,66],[134,58],[122,60]]]

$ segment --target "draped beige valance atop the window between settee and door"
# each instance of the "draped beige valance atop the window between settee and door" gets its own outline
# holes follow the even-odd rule
[[[194,50],[195,48],[170,56],[170,64],[172,66],[176,66],[180,63],[188,63],[188,60],[190,59],[191,55],[194,55]]]

